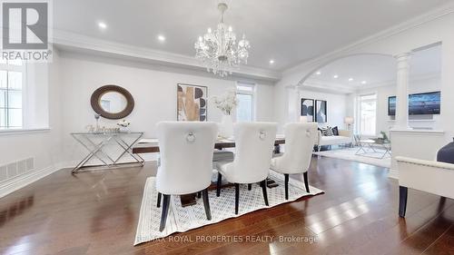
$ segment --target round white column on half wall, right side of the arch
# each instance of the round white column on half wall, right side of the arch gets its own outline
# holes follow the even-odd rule
[[[410,53],[396,55],[397,59],[397,90],[396,90],[396,124],[395,129],[409,127],[409,81]]]

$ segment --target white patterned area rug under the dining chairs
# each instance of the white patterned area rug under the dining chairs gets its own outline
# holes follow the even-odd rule
[[[155,178],[150,177],[147,179],[143,191],[143,199],[134,245],[145,241],[163,238],[175,232],[184,232],[196,229],[229,218],[238,217],[251,211],[273,207],[288,201],[295,201],[304,196],[316,195],[323,192],[310,186],[311,193],[308,193],[304,188],[304,182],[290,179],[289,200],[286,201],[283,174],[270,172],[270,178],[279,184],[278,187],[267,190],[270,206],[265,205],[262,196],[262,188],[258,184],[252,184],[252,191],[247,190],[246,184],[240,185],[240,208],[238,215],[235,215],[234,212],[234,187],[222,189],[221,197],[219,198],[216,197],[216,191],[209,191],[212,221],[206,220],[202,199],[197,199],[197,204],[195,205],[182,207],[180,197],[172,196],[169,215],[167,216],[167,223],[163,232],[160,232],[159,224],[161,221],[162,207],[156,207],[157,191],[155,189]]]

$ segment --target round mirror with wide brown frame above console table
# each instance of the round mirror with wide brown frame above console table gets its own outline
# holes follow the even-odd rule
[[[104,85],[94,91],[91,98],[94,112],[106,119],[123,119],[133,112],[133,95],[123,87]]]

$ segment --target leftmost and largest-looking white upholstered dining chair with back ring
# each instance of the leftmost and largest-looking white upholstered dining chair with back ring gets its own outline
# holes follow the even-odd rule
[[[162,122],[157,124],[161,165],[156,174],[158,207],[163,195],[159,230],[163,231],[171,195],[202,191],[206,218],[212,220],[207,188],[212,184],[212,148],[216,123]]]

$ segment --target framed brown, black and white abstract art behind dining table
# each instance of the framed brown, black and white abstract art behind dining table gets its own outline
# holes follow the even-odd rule
[[[178,122],[206,122],[208,88],[185,83],[177,84]]]

